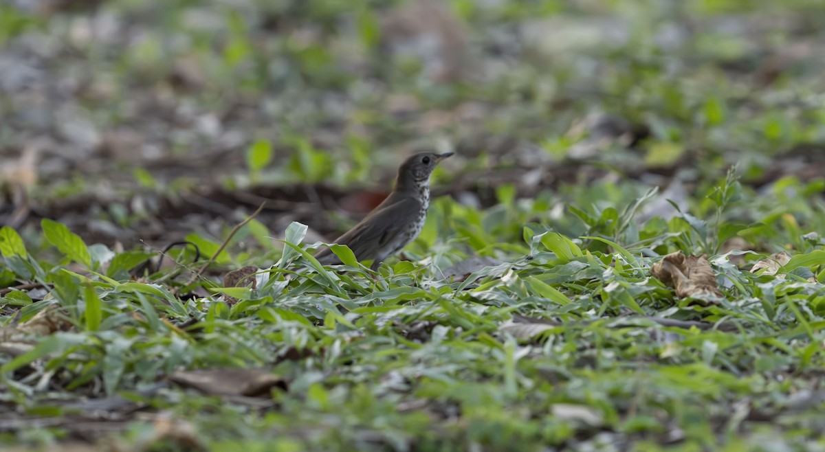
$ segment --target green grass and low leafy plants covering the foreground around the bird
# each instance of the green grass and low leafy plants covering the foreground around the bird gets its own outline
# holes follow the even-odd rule
[[[735,198],[719,206],[709,229],[756,202],[747,191]],[[781,205],[774,195],[761,202]],[[766,437],[790,448],[819,440],[821,404],[806,401],[818,397],[825,365],[825,253],[821,238],[792,234],[823,224],[821,203],[812,210],[774,209],[740,226],[740,235],[772,231],[775,236],[758,237],[776,248],[807,240],[791,251],[802,265],[780,271],[783,279],[752,275],[740,270],[749,265],[731,261],[735,254],[711,250],[724,299],[707,307],[675,299],[648,274],[658,257],[647,256],[704,251],[701,219],[636,224],[618,216],[600,230],[556,226],[531,204],[479,212],[437,200],[426,232],[408,247],[408,256],[422,260],[389,261],[380,275],[361,265],[339,269],[344,272],[319,268],[296,252],[306,244],[253,257],[276,264],[262,271],[258,289],[231,291],[240,299],[232,306],[217,295],[176,297],[171,289],[180,283],[151,282],[163,273],[129,281],[113,267],[127,269],[139,258],[117,255],[128,262],[119,266],[89,258],[114,253],[99,245],[87,252],[58,224],[45,222],[44,237],[66,257],[50,261],[28,254],[4,228],[7,279],[54,285],[36,303],[19,291],[7,294],[7,319],[19,309],[25,323],[57,305],[72,327],[30,338],[31,351],[3,360],[3,397],[23,412],[68,417],[71,411],[60,407],[64,398],[122,394],[191,422],[214,450],[271,440],[284,450],[656,449],[671,442],[686,450],[758,449]],[[622,215],[633,213],[617,207]],[[796,231],[786,227],[790,219]],[[522,234],[511,223],[530,227]],[[620,224],[627,226],[620,230]],[[560,227],[625,247],[552,232]],[[294,225],[287,237],[299,244],[304,230]],[[441,276],[475,253],[501,263],[464,280]],[[226,265],[235,258],[230,251]],[[73,271],[66,270],[69,261]],[[811,276],[816,282],[808,282]],[[502,327],[516,314],[557,323],[532,331]],[[643,316],[717,327],[662,327]],[[175,327],[190,319],[195,322]],[[285,389],[272,389],[272,403],[262,410],[173,384],[148,391],[175,370],[224,366],[271,371]],[[141,428],[139,421],[134,425]],[[60,428],[35,433],[46,442],[61,437]]]

